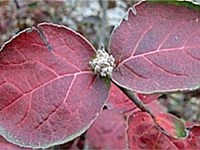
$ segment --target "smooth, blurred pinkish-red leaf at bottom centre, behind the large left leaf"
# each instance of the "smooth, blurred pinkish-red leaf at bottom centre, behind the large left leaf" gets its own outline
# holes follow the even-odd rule
[[[126,149],[126,122],[122,114],[104,110],[86,134],[89,149]]]

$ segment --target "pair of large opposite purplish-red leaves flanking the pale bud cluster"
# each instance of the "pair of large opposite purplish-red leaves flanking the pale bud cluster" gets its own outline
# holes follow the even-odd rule
[[[146,94],[198,88],[200,12],[148,2],[136,9],[111,35],[112,80]],[[48,23],[37,28],[0,52],[0,134],[16,145],[47,148],[88,129],[109,87],[88,66],[95,49],[84,37]]]

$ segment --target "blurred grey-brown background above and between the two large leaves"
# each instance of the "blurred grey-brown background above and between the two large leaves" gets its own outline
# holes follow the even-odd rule
[[[19,31],[41,22],[68,26],[96,48],[108,44],[113,27],[134,0],[0,0],[0,45]]]

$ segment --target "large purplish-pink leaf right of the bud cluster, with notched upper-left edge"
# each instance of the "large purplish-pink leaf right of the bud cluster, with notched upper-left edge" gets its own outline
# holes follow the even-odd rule
[[[143,2],[114,30],[113,80],[138,93],[188,90],[200,83],[200,13]]]

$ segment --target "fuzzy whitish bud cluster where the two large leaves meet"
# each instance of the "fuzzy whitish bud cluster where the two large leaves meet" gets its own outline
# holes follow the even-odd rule
[[[94,73],[99,74],[101,77],[111,77],[115,67],[115,59],[109,55],[104,49],[98,50],[96,58],[89,62],[94,70]]]

